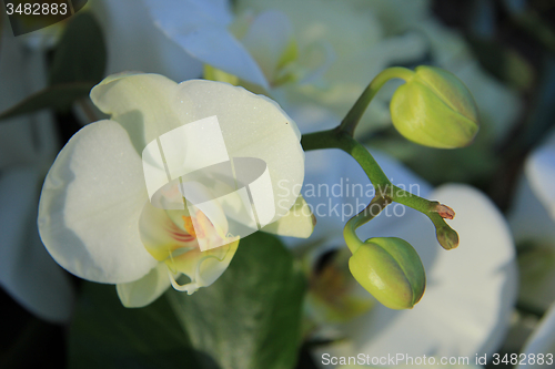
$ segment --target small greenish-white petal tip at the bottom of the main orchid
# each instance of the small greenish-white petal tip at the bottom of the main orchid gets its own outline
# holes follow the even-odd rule
[[[124,307],[139,308],[154,301],[170,285],[168,267],[159,263],[141,279],[117,285],[117,290]]]

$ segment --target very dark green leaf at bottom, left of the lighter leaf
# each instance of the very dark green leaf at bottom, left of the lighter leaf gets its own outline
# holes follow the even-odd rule
[[[70,368],[210,368],[198,357],[165,298],[128,309],[114,286],[84,284],[70,327]]]

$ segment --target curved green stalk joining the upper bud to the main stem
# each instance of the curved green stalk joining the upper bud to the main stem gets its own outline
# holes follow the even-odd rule
[[[359,100],[354,103],[353,107],[345,115],[345,119],[341,122],[339,130],[347,133],[351,137],[354,135],[354,130],[359,124],[362,115],[366,111],[366,107],[370,105],[372,99],[374,99],[375,94],[380,89],[391,79],[402,79],[408,81],[414,75],[414,72],[410,69],[402,66],[392,66],[387,68],[380,74],[377,74],[372,82],[370,82],[369,86],[361,94]]]

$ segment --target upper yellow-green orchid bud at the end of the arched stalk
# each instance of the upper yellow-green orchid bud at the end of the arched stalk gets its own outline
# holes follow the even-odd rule
[[[393,94],[395,129],[424,146],[467,146],[478,132],[478,111],[468,89],[453,73],[421,65]]]

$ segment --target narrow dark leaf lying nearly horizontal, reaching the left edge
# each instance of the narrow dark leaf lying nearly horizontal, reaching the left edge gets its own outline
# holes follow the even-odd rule
[[[77,99],[88,96],[94,84],[91,82],[77,82],[46,88],[0,113],[0,120],[33,113],[46,107],[69,109]]]

